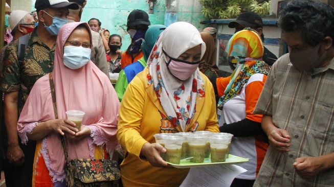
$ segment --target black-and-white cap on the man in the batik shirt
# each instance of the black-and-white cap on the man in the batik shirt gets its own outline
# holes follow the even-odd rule
[[[64,8],[76,10],[79,6],[76,3],[70,3],[68,0],[36,0],[35,8],[41,10],[44,8]]]

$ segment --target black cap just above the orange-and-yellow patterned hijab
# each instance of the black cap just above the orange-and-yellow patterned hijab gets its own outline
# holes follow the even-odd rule
[[[255,12],[243,12],[235,21],[229,22],[229,28],[236,28],[238,25],[244,27],[262,28],[262,18]]]

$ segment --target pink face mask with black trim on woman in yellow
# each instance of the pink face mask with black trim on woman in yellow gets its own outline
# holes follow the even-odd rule
[[[165,51],[163,51],[166,56]],[[169,56],[168,56],[169,57]],[[169,61],[167,62],[167,67],[170,73],[181,81],[185,81],[189,79],[189,77],[196,71],[198,68],[198,62],[188,62],[184,60],[179,60],[175,58],[169,57]]]

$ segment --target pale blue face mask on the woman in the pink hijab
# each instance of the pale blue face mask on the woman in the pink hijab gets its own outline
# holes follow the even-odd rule
[[[91,59],[91,49],[82,46],[64,46],[64,65],[70,69],[78,69]]]

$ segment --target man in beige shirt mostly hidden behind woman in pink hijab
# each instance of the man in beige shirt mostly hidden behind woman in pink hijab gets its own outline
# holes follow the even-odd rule
[[[69,10],[69,22],[79,22],[81,19],[83,8],[86,5],[86,0],[69,0],[69,2],[76,3],[79,6],[79,9],[77,10]],[[108,62],[105,58],[105,49],[102,37],[98,32],[92,30],[92,40],[93,48],[91,53],[91,60],[107,77],[109,77]]]

